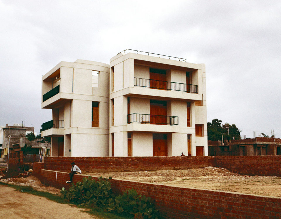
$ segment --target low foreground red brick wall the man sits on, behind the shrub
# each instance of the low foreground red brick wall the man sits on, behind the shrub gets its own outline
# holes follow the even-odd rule
[[[73,182],[87,175],[76,174]],[[46,185],[69,188],[68,173],[42,170]],[[95,178],[97,179],[97,178]],[[181,188],[152,183],[111,180],[114,192],[134,188],[139,194],[155,200],[163,218],[280,218],[281,198],[255,196],[234,192],[219,192]]]

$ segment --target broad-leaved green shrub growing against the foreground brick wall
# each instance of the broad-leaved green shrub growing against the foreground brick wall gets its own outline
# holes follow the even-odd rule
[[[98,181],[91,179],[89,176],[83,178],[82,182],[72,183],[68,191],[63,187],[63,198],[82,206],[98,206],[109,212],[134,215],[138,219],[158,218],[158,210],[150,197],[142,196],[134,189],[115,197],[111,189],[111,177],[100,177]]]

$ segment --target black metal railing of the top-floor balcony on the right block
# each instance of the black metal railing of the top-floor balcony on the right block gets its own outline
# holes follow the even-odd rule
[[[170,81],[158,81],[153,79],[135,78],[134,86],[149,87],[167,91],[184,91],[187,93],[198,93],[198,85],[183,84]]]

